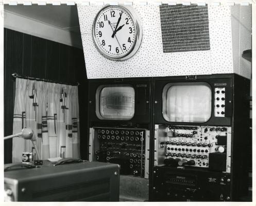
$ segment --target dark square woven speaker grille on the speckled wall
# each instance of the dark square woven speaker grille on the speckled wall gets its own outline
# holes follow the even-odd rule
[[[161,5],[163,52],[210,50],[207,6]]]

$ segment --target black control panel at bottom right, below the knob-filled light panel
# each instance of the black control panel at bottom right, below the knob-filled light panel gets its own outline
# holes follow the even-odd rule
[[[193,167],[153,168],[154,201],[230,201],[231,175]]]

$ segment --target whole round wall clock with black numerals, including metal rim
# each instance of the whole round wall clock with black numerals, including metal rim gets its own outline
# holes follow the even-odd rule
[[[142,41],[142,27],[132,7],[106,5],[95,16],[93,40],[99,53],[110,60],[132,57]]]

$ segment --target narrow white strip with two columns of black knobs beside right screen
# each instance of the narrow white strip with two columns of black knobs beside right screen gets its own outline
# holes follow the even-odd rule
[[[214,116],[225,116],[225,88],[215,88]]]

